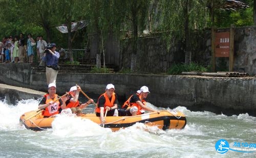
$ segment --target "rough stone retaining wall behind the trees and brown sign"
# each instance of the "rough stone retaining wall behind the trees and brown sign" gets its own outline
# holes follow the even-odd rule
[[[217,29],[217,32],[229,32],[228,29]],[[139,72],[160,73],[166,72],[173,63],[184,63],[184,43],[173,42],[167,49],[166,42],[161,34],[153,37],[139,37],[137,44],[137,70]],[[191,36],[192,61],[204,66],[211,61],[211,30],[195,32]],[[234,29],[234,71],[256,74],[256,27],[243,27]],[[131,40],[121,41],[120,67],[131,67],[132,43]],[[216,70],[228,71],[229,58],[216,58]]]

